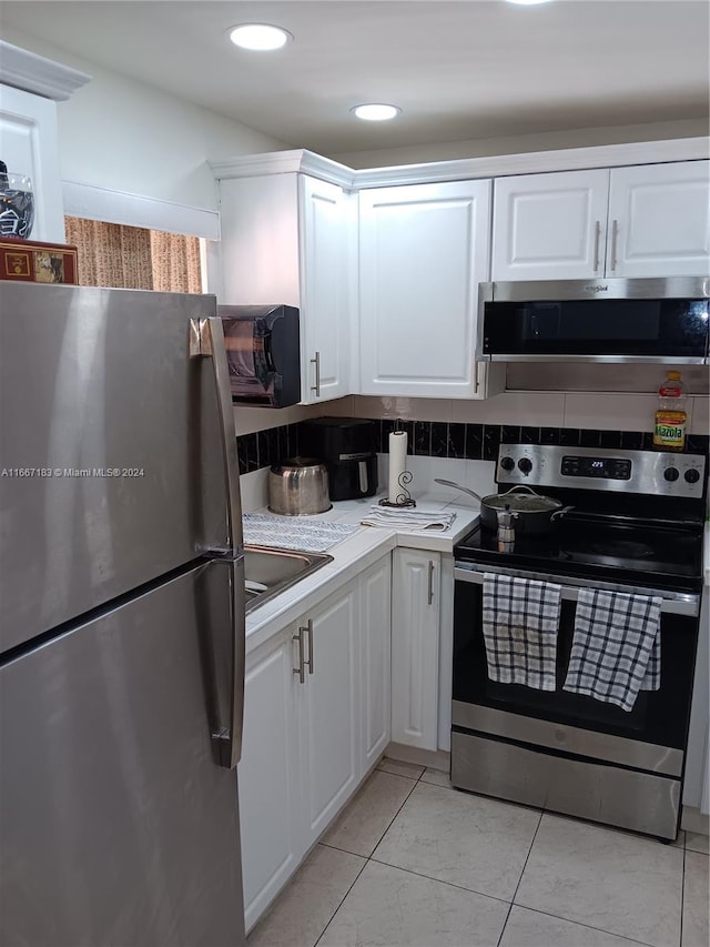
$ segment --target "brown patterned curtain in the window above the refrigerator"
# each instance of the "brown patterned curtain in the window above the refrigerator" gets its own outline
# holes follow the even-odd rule
[[[79,284],[201,293],[200,240],[83,218],[64,218]]]

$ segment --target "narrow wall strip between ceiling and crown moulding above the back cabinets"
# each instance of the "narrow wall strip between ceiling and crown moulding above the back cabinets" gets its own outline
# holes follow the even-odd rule
[[[640,125],[572,129],[570,131],[521,134],[511,138],[486,138],[473,141],[437,141],[408,148],[354,151],[328,154],[349,168],[389,168],[396,164],[420,164],[427,161],[453,161],[458,158],[485,158],[497,154],[521,154],[564,148],[588,148],[601,144],[626,144],[633,141],[666,141],[696,138],[709,133],[710,120],[683,119]]]

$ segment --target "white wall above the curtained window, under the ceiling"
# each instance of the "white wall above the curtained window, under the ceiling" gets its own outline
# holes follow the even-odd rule
[[[3,29],[2,38],[92,77],[58,103],[64,181],[216,210],[207,160],[290,148],[26,33]]]

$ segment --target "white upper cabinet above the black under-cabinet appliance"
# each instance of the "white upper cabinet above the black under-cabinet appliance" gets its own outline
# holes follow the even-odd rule
[[[219,183],[220,302],[297,306],[302,402],[349,394],[351,195],[297,173]]]

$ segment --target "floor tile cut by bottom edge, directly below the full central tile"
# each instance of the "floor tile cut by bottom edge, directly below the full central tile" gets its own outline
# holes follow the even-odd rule
[[[495,947],[504,901],[368,862],[318,947]]]

